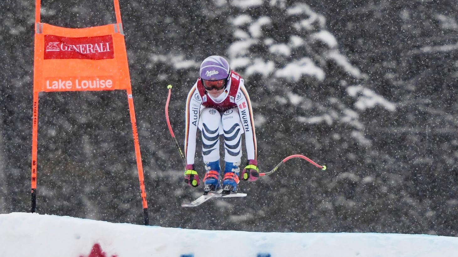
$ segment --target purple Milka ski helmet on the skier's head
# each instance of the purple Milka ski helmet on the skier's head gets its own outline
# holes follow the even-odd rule
[[[202,80],[224,80],[229,78],[228,61],[221,56],[212,55],[203,60],[199,72]]]

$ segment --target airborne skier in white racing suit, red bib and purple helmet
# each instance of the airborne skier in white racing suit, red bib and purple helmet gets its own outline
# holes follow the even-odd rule
[[[217,191],[222,180],[222,194],[235,193],[239,183],[239,165],[242,156],[242,134],[248,163],[241,179],[256,181],[259,170],[256,161],[256,134],[250,97],[244,80],[230,70],[229,63],[213,55],[203,60],[199,78],[186,101],[185,126],[185,183],[200,184],[195,170],[197,129],[202,134],[202,157],[205,164],[204,195]],[[219,136],[224,136],[224,173],[221,174]]]

